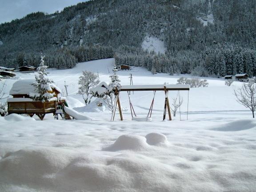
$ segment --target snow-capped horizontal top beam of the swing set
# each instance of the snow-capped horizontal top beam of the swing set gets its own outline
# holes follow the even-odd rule
[[[181,84],[165,84],[167,90],[189,90],[190,85],[181,85]],[[128,90],[164,90],[164,84],[155,84],[155,85],[123,85],[120,87],[120,91]]]

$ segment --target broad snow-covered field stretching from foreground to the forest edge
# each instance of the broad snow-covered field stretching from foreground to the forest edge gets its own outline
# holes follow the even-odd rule
[[[180,92],[184,104],[173,121],[162,121],[164,93],[156,92],[152,122],[131,121],[122,92],[125,120],[116,114],[111,122],[107,108],[95,102],[83,106],[77,82],[83,70],[109,82],[113,62],[48,70],[63,91],[64,81],[68,84],[69,107],[93,120],[0,117],[0,192],[255,192],[256,121],[235,101],[234,87],[208,78],[208,88],[192,88],[188,120],[188,95]],[[118,72],[121,84],[129,84],[129,73],[133,84],[176,84],[180,77],[132,68]],[[7,89],[33,77],[18,73],[7,80]],[[170,100],[176,94],[170,92]],[[152,97],[152,92],[131,95],[138,116],[147,115]]]

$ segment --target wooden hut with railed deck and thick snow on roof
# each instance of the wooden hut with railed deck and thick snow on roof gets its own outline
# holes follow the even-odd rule
[[[40,118],[44,119],[45,114],[53,113],[55,115],[56,106],[58,103],[58,94],[61,92],[56,85],[51,84],[50,87],[53,93],[53,98],[50,101],[41,102],[33,101],[30,93],[35,93],[34,86],[35,80],[18,80],[12,85],[10,95],[12,98],[8,98],[8,114],[28,114],[29,116],[34,116],[35,114]]]

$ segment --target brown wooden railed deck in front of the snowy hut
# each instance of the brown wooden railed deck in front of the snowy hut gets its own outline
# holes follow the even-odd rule
[[[56,101],[40,102],[40,101],[24,101],[24,102],[8,102],[8,114],[29,114],[37,115],[40,120],[44,119],[45,114],[56,112]]]

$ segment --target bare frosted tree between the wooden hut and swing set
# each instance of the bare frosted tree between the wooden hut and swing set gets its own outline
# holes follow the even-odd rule
[[[83,96],[86,105],[90,104],[92,99],[91,89],[99,83],[98,76],[93,72],[84,71],[83,75],[79,77],[78,84],[80,87],[78,88],[78,94]]]

